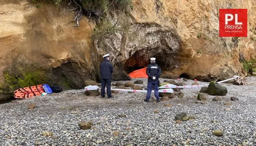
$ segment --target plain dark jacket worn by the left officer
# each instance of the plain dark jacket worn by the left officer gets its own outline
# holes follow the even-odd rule
[[[111,79],[111,75],[113,73],[113,66],[109,60],[104,59],[100,63],[100,75],[102,79]]]

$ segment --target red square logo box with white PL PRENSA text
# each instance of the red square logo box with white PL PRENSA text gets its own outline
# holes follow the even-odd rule
[[[219,9],[220,37],[247,37],[247,9]]]

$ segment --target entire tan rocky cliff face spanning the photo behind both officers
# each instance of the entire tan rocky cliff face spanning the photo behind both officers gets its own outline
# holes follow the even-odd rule
[[[248,37],[220,38],[219,8],[247,8]],[[84,16],[80,28],[66,26],[73,15],[65,2],[37,9],[31,0],[2,0],[0,79],[4,71],[22,76],[36,70],[48,82],[82,88],[85,79],[100,81],[99,63],[109,53],[113,80],[128,80],[127,73],[147,66],[150,57],[165,78],[223,80],[243,76],[240,53],[256,55],[254,0],[132,0],[130,14],[108,15],[116,32],[92,41],[94,20]]]

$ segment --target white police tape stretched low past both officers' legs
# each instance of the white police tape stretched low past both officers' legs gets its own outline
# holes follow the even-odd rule
[[[90,86],[86,86],[84,87],[85,91],[87,90],[97,90],[99,89],[98,86],[94,85],[90,85]],[[114,91],[130,91],[130,92],[148,92],[147,90],[132,90],[132,89],[111,89],[111,90],[114,90]],[[152,92],[154,92],[154,90],[152,90]],[[168,89],[160,89],[158,90],[158,92],[166,92],[166,93],[173,93],[173,90],[171,88],[168,88]]]

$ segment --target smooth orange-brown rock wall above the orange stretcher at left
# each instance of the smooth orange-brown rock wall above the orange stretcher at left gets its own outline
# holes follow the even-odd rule
[[[85,79],[96,80],[90,34],[94,21],[82,17],[72,27],[74,12],[62,6],[36,8],[32,0],[0,1],[0,79],[3,72],[42,72],[48,82],[63,88],[82,88]],[[65,86],[64,86],[65,85]]]

